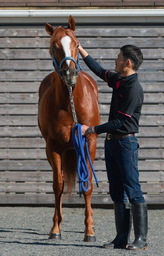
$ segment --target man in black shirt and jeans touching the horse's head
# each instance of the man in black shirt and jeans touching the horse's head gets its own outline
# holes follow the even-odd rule
[[[113,89],[108,122],[95,127],[82,126],[82,135],[107,133],[105,163],[117,235],[103,247],[147,250],[147,204],[139,183],[139,145],[135,136],[144,100],[136,74],[143,62],[142,52],[133,45],[121,47],[115,60],[115,73],[103,69],[80,44],[78,49],[89,69]],[[135,240],[130,245],[132,215]]]

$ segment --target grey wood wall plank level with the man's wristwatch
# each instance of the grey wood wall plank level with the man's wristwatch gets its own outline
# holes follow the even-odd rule
[[[164,137],[163,127],[139,127],[139,133],[137,137]],[[0,137],[42,137],[42,134],[38,126],[0,126]],[[105,133],[99,135],[99,137],[106,137]]]

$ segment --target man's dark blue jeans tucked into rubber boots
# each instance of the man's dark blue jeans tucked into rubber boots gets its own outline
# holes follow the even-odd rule
[[[105,163],[113,202],[145,203],[139,183],[136,136],[105,139]]]

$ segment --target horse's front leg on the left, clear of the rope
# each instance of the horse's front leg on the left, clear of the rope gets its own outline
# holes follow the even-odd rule
[[[55,194],[55,213],[53,217],[53,226],[50,231],[50,236],[48,239],[61,239],[60,229],[61,223],[63,221],[63,214],[62,214],[62,193],[64,189],[64,181],[62,179],[62,171],[61,171],[61,159],[60,155],[51,152],[48,153],[51,166],[53,169],[53,191]]]

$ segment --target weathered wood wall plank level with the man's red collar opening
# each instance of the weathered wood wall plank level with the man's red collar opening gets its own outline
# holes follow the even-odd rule
[[[40,82],[1,82],[0,93],[36,93],[39,91]],[[164,83],[162,82],[141,82],[144,93],[164,92]],[[97,82],[100,93],[111,93],[112,88],[107,86],[105,82]]]

